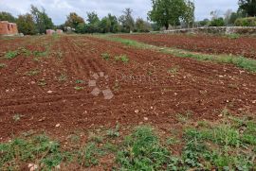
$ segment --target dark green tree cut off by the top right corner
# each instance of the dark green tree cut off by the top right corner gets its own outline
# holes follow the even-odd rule
[[[256,0],[239,0],[239,10],[244,10],[248,17],[256,16]]]

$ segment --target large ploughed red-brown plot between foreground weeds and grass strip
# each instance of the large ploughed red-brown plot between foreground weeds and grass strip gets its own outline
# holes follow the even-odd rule
[[[0,43],[2,53],[21,46],[31,51],[50,47],[41,60],[24,54],[12,60],[1,57],[0,63],[7,67],[0,68],[0,141],[29,130],[61,137],[117,123],[170,130],[178,123],[178,113],[190,113],[190,119],[197,121],[216,120],[225,108],[240,115],[256,111],[256,75],[233,65],[176,58],[89,36],[25,37]],[[109,53],[111,60],[103,60],[103,53]],[[119,55],[130,61],[116,61]],[[177,71],[168,73],[171,68]],[[40,73],[27,75],[35,70]],[[110,100],[90,94],[93,87],[88,81],[94,79],[90,73],[99,72],[109,77],[99,86],[109,85],[114,93]],[[15,122],[17,114],[20,120]]]

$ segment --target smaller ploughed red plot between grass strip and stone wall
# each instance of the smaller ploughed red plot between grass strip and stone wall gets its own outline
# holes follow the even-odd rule
[[[194,52],[232,54],[256,59],[256,38],[252,37],[230,39],[221,36],[186,34],[134,34],[120,35],[119,37]]]

